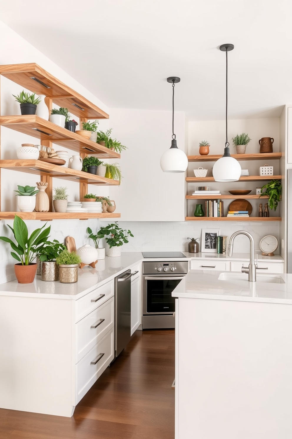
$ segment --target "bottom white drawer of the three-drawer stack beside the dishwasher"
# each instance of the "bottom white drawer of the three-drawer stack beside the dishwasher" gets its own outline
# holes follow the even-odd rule
[[[88,392],[102,372],[106,370],[113,358],[114,330],[111,329],[75,366],[77,379],[76,404]]]

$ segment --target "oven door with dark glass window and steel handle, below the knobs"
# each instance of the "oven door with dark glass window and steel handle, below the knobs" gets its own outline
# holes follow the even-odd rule
[[[144,274],[143,275],[143,315],[173,314],[175,298],[171,293],[183,279],[171,274]]]

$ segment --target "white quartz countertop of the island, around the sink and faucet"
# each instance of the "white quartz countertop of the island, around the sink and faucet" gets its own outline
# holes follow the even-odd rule
[[[234,279],[218,280],[220,273],[229,273]],[[284,283],[249,282],[236,279],[237,272],[190,270],[172,292],[173,297],[190,299],[239,300],[243,302],[285,303],[292,305],[292,274],[268,273]]]

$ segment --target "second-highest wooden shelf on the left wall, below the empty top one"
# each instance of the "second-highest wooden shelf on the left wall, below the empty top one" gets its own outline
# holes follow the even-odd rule
[[[36,115],[0,116],[0,125],[38,139],[51,141],[73,151],[96,154],[99,158],[120,158],[120,154]]]

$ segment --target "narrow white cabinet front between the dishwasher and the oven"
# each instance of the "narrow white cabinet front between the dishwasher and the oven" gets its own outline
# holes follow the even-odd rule
[[[131,335],[141,325],[141,263],[131,269]]]

